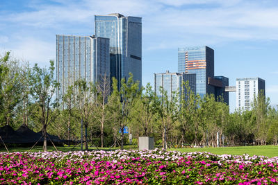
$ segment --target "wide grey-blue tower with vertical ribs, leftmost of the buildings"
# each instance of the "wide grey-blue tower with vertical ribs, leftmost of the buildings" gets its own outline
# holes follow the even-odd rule
[[[95,36],[56,35],[56,95],[61,98],[76,80],[110,78],[109,39]]]

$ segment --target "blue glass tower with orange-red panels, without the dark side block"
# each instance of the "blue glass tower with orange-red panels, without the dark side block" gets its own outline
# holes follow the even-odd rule
[[[178,72],[196,73],[196,94],[215,94],[215,87],[208,85],[214,77],[214,50],[208,46],[178,49]]]

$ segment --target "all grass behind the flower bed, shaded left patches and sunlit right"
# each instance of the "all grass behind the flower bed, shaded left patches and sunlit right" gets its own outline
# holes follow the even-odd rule
[[[8,148],[10,152],[26,152],[31,147],[26,148]],[[58,150],[67,152],[72,150],[73,146],[57,146]],[[53,146],[47,146],[49,152],[55,151]],[[83,147],[83,150],[85,147]],[[97,148],[89,148],[90,150],[97,150]],[[99,148],[101,150],[116,150],[117,148]],[[138,149],[136,146],[124,146],[124,149]],[[73,150],[80,150],[80,146],[76,146]],[[221,148],[171,148],[170,150],[177,150],[180,152],[211,152],[216,155],[263,155],[267,157],[278,156],[278,146],[238,146],[238,147],[221,147]],[[35,146],[31,152],[42,151],[42,146]],[[6,149],[1,146],[0,152],[6,152]]]

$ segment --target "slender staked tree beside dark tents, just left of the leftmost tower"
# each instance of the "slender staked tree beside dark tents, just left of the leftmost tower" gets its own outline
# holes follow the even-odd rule
[[[47,126],[53,123],[59,114],[58,97],[53,99],[58,82],[54,80],[54,61],[50,60],[50,67],[40,68],[38,64],[31,69],[30,92],[34,101],[36,111],[33,115],[42,125],[42,136],[44,137],[43,150],[47,151]]]

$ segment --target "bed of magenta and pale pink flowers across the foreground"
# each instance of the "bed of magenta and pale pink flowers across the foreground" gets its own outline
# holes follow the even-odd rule
[[[1,184],[277,184],[278,158],[207,152],[0,153]]]

